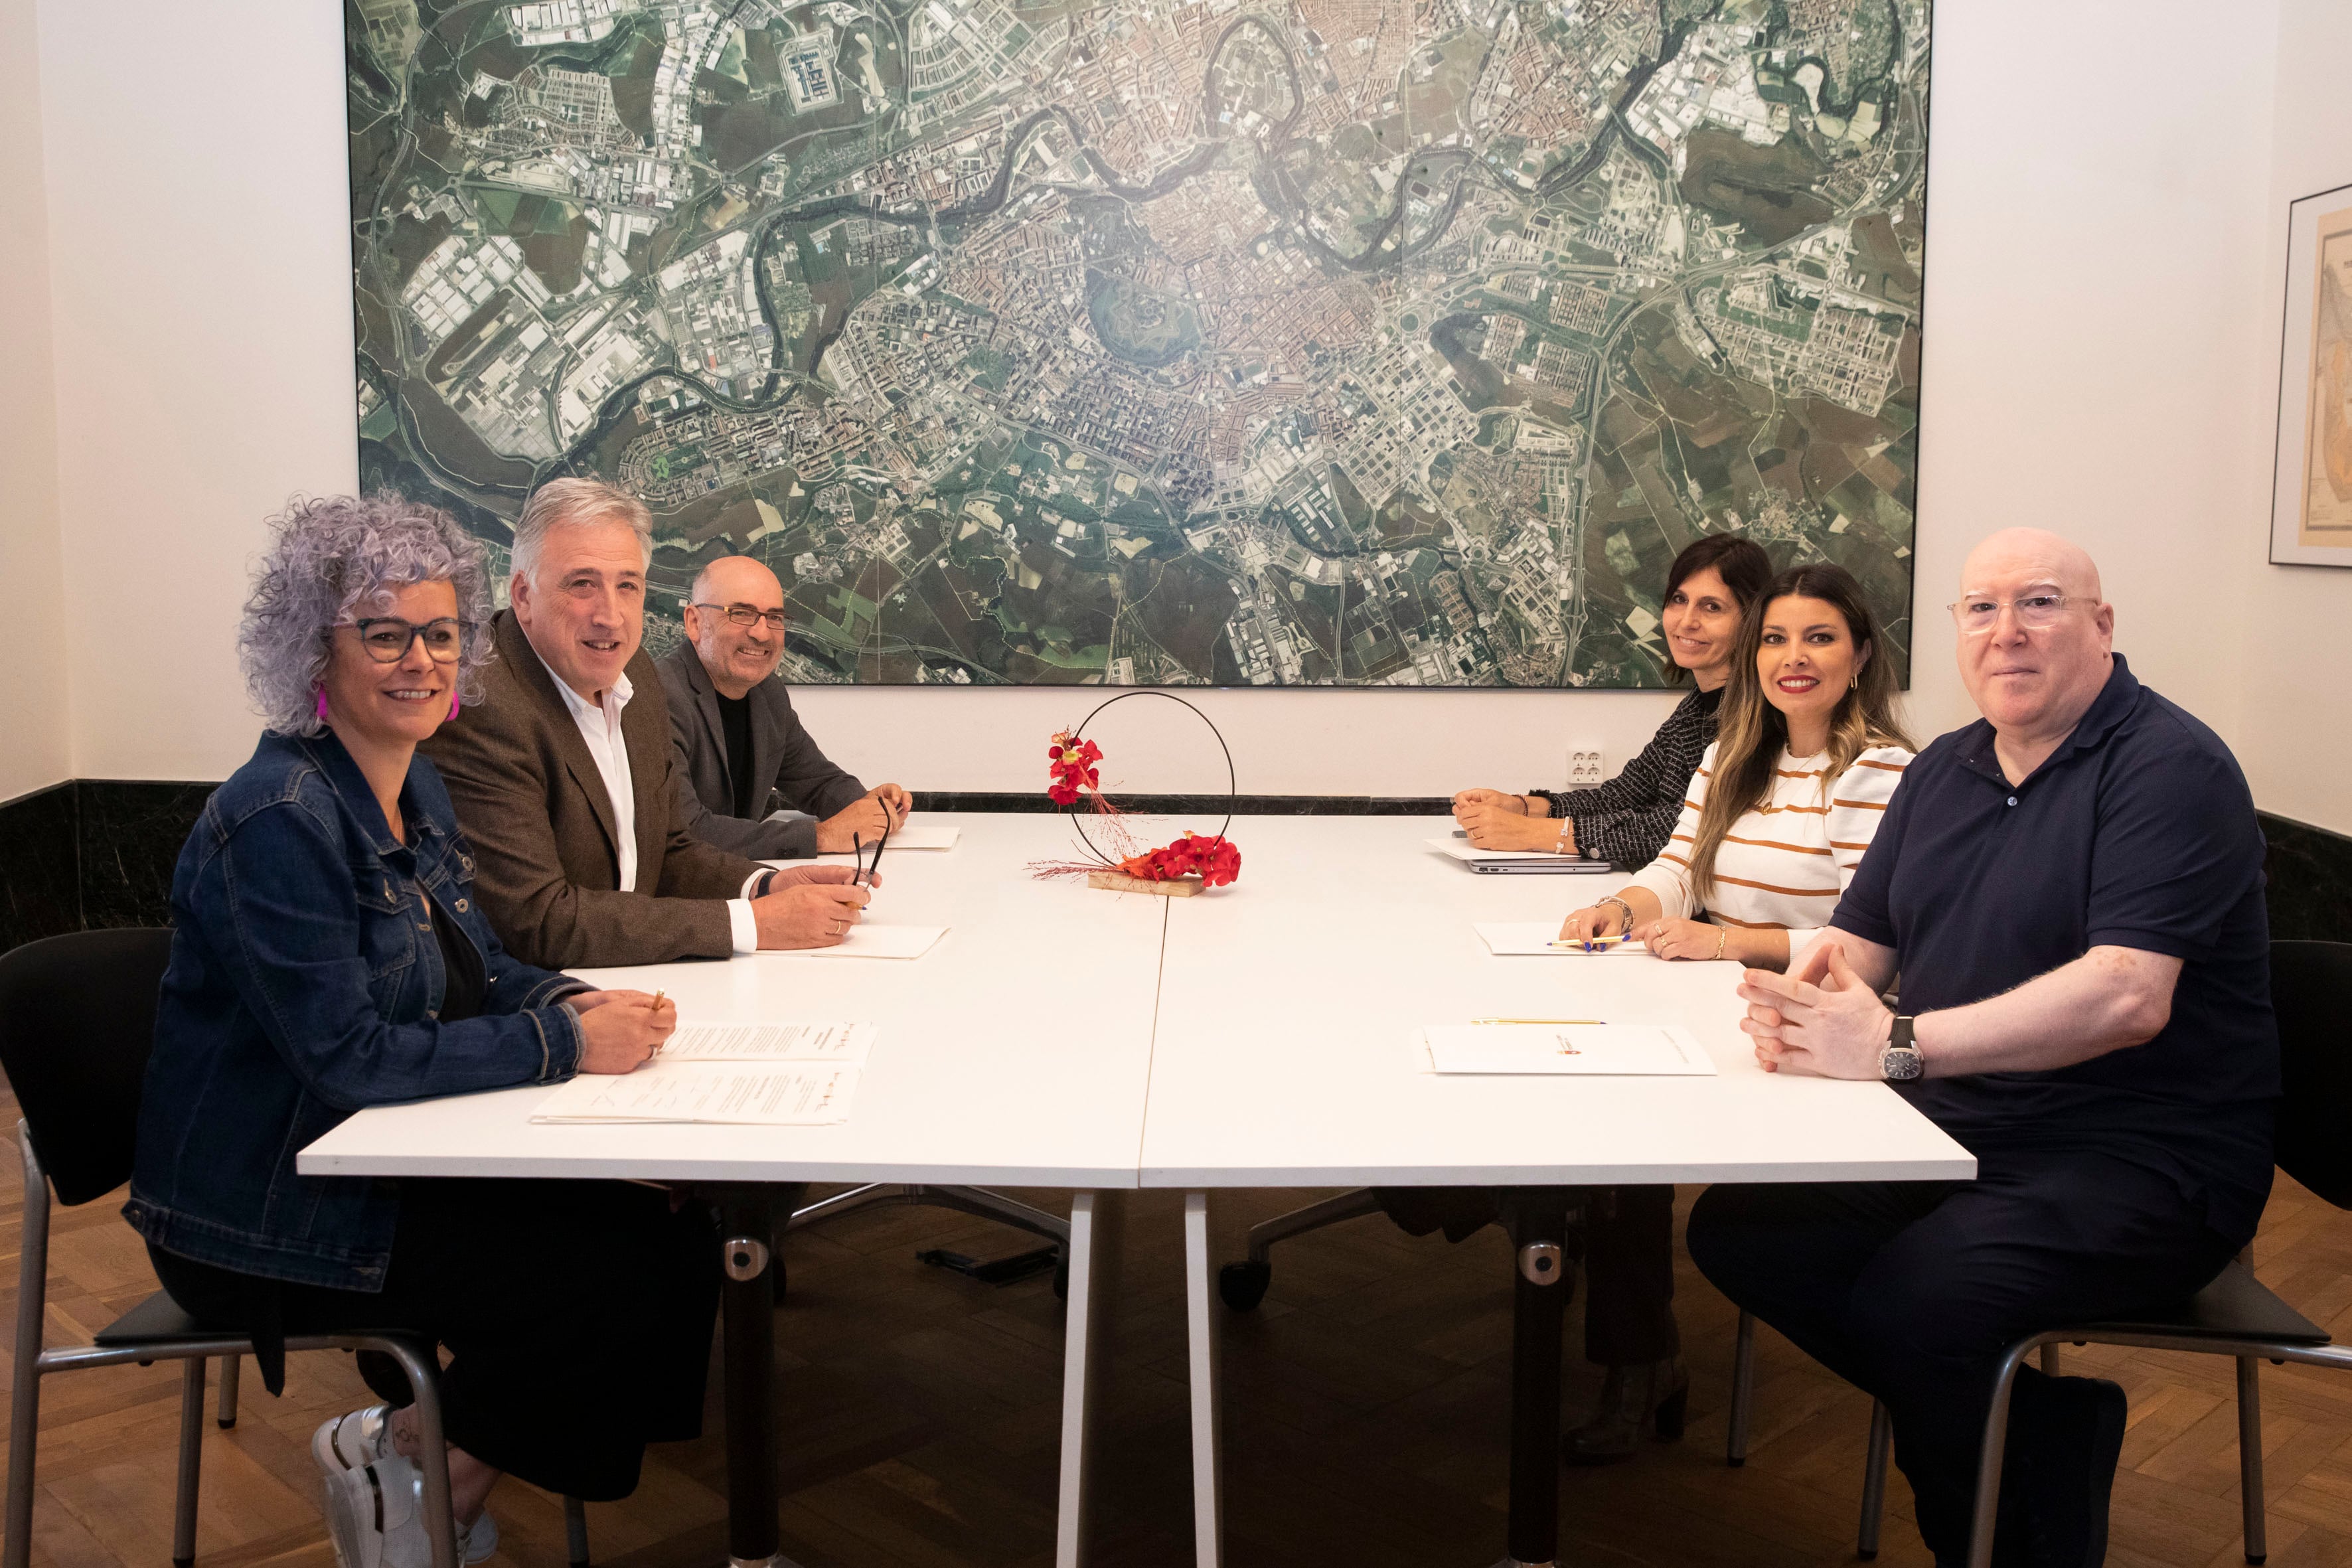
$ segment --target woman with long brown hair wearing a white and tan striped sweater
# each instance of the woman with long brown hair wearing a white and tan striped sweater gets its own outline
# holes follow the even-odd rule
[[[1893,708],[1893,663],[1853,574],[1816,562],[1776,576],[1740,621],[1717,738],[1665,851],[1569,914],[1562,940],[1630,933],[1661,959],[1785,969],[1830,922],[1910,764]],[[1606,1465],[1644,1429],[1679,1436],[1691,1380],[1677,1359],[1675,1190],[1618,1187],[1592,1215],[1588,1312],[1613,1328],[1602,1340],[1588,1319],[1585,1354],[1609,1375],[1566,1458]]]

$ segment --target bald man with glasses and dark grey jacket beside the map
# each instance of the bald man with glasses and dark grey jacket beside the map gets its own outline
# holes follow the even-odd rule
[[[687,642],[656,661],[670,701],[670,748],[687,778],[694,837],[753,860],[802,860],[873,844],[913,809],[894,785],[868,790],[793,712],[783,661],[783,585],[748,555],[701,569]],[[774,818],[779,809],[807,816]]]

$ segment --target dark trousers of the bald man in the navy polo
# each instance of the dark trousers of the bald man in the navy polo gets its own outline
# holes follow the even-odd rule
[[[1945,1566],[1969,1556],[2002,1352],[2192,1295],[2237,1246],[2169,1178],[2060,1150],[1978,1152],[1973,1182],[1710,1187],[1689,1229],[1724,1295],[1886,1403],[1919,1537]],[[2020,1443],[2034,1394],[2011,1410]]]

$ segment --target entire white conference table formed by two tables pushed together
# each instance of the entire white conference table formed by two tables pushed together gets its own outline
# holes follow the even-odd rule
[[[1211,1187],[1581,1187],[1703,1180],[1969,1178],[1969,1154],[1882,1084],[1755,1067],[1729,964],[1644,954],[1489,957],[1472,919],[1559,919],[1616,877],[1491,877],[1432,853],[1446,818],[1254,816],[1242,879],[1200,898],[1035,882],[1073,858],[1058,816],[927,813],[953,851],[882,867],[873,922],[946,924],[913,961],[760,954],[579,971],[666,990],[680,1018],[880,1025],[840,1126],[532,1126],[548,1088],[360,1112],[299,1157],[308,1175],[503,1175],[1070,1187],[1070,1314],[1056,1566],[1080,1561],[1089,1356],[1101,1305],[1096,1194],[1185,1192],[1195,1530],[1221,1561]],[[1458,1079],[1418,1070],[1411,1032],[1484,1016],[1679,1023],[1717,1060],[1698,1079]],[[724,1211],[724,1206],[722,1206]],[[1564,1291],[1548,1314],[1557,1382]],[[767,1279],[727,1286],[729,1556],[776,1552]],[[1522,1324],[1522,1342],[1526,1326]],[[1541,1335],[1538,1335],[1541,1338]],[[743,1361],[739,1363],[739,1340]],[[1515,1420],[1534,1415],[1517,1410]],[[1541,1415],[1541,1413],[1536,1413]],[[1557,1507],[1557,1396],[1543,1537]],[[1517,1446],[1517,1443],[1515,1443]],[[1534,1469],[1529,1469],[1534,1474]],[[1545,1490],[1548,1497],[1534,1493]],[[1550,1561],[1522,1556],[1522,1561]]]

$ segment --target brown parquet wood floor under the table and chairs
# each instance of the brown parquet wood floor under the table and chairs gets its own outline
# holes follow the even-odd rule
[[[0,1103],[0,1126],[14,1128]],[[1058,1194],[1030,1194],[1054,1206]],[[1317,1194],[1216,1199],[1223,1255],[1242,1229]],[[1684,1192],[1689,1201],[1693,1192]],[[52,1342],[85,1338],[153,1288],[120,1199],[56,1215]],[[0,1159],[0,1286],[16,1279],[21,1192]],[[1044,1281],[990,1288],[913,1260],[920,1246],[997,1255],[1016,1232],[941,1211],[873,1211],[795,1237],[779,1331],[783,1549],[804,1568],[1042,1568],[1054,1547],[1058,1305]],[[1190,1563],[1181,1215],[1171,1194],[1129,1211],[1122,1328],[1103,1387],[1108,1429],[1098,1568]],[[2256,1265],[2338,1338],[2352,1335],[2352,1215],[2284,1182]],[[1287,1244],[1265,1305],[1225,1321],[1228,1561],[1479,1568],[1501,1554],[1510,1284],[1496,1232],[1461,1246],[1381,1218]],[[1693,1373],[1686,1441],[1637,1462],[1562,1472],[1562,1561],[1621,1568],[1806,1568],[1853,1561],[1867,1401],[1759,1333],[1750,1462],[1722,1462],[1733,1309],[1684,1265]],[[14,1321],[0,1300],[0,1321]],[[1571,1326],[1578,1314],[1571,1312]],[[1573,1338],[1573,1333],[1571,1333]],[[2239,1561],[2227,1361],[2070,1352],[2131,1394],[2114,1490],[2119,1568]],[[1566,1406],[1597,1375],[1573,1361]],[[205,1568],[332,1568],[308,1434],[365,1401],[343,1356],[296,1356],[285,1399],[247,1368],[242,1420],[205,1434]],[[2270,1561],[2352,1568],[2352,1378],[2265,1368]],[[165,1568],[179,1371],[45,1380],[38,1568]],[[628,1502],[590,1507],[595,1559],[710,1568],[724,1559],[724,1465],[710,1434],[656,1448]],[[560,1568],[553,1497],[492,1497],[496,1568]],[[1924,1568],[1900,1474],[1879,1556]]]

